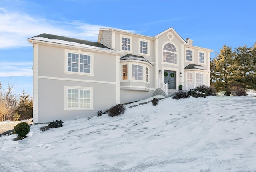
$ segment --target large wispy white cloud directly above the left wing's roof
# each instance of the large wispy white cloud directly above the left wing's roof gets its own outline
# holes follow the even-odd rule
[[[4,8],[0,8],[0,16],[0,48],[31,46],[27,39],[42,33],[96,41],[99,29],[109,28],[81,21],[60,22],[33,18],[28,14],[9,12]]]

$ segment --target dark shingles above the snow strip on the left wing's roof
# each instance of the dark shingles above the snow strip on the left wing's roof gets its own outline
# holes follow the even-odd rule
[[[37,36],[33,36],[30,39],[36,38],[36,37],[48,38],[48,39],[51,39],[51,40],[63,40],[63,41],[68,41],[68,42],[76,42],[76,43],[79,43],[79,44],[85,44],[85,45],[90,45],[90,46],[95,46],[95,47],[100,47],[100,48],[108,48],[107,46],[104,46],[103,44],[101,44],[99,42],[92,42],[92,41],[80,40],[80,39],[69,38],[69,37],[65,37],[65,36],[45,34],[45,33],[37,35]],[[111,49],[111,48],[108,48],[108,49]]]

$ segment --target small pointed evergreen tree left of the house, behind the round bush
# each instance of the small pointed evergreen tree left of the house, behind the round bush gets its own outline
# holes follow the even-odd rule
[[[23,89],[22,94],[19,96],[19,106],[17,113],[20,114],[20,120],[30,119],[33,117],[33,100],[30,100],[29,95]]]

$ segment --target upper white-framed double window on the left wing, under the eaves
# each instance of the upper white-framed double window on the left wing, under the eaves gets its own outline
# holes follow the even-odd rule
[[[65,72],[92,75],[92,53],[65,50]]]

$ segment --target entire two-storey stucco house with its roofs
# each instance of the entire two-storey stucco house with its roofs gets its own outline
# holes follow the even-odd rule
[[[173,28],[156,36],[102,28],[98,42],[40,34],[33,44],[33,120],[95,116],[164,92],[210,86],[210,50]]]

